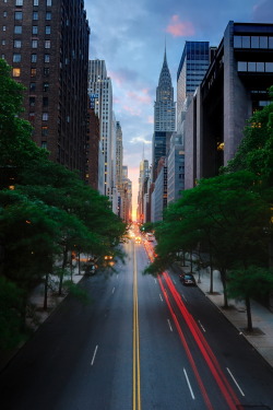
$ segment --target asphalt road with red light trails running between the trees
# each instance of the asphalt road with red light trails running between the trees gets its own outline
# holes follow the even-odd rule
[[[273,371],[198,288],[126,265],[84,278],[0,374],[2,410],[273,410]]]

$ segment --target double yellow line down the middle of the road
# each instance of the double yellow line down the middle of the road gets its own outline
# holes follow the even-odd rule
[[[140,329],[138,307],[138,270],[133,247],[133,410],[141,410],[140,395]]]

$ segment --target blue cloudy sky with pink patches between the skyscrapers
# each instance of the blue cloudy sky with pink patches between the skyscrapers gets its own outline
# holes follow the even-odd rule
[[[177,69],[186,40],[218,46],[228,22],[273,23],[273,0],[85,0],[90,59],[105,60],[114,112],[123,137],[123,165],[136,207],[140,162],[152,160],[154,101],[167,61],[176,98]]]

